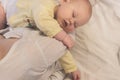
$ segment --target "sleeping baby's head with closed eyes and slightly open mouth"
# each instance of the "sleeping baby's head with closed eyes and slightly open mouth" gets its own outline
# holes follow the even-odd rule
[[[72,32],[76,27],[85,24],[91,15],[90,4],[85,0],[64,2],[56,8],[56,20],[66,32]]]

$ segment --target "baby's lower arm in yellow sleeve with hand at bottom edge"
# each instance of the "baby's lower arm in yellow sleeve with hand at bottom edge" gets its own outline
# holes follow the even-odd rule
[[[77,65],[70,51],[67,50],[66,53],[59,59],[59,61],[65,70],[65,73],[71,74],[73,80],[80,80],[80,72],[77,69]]]

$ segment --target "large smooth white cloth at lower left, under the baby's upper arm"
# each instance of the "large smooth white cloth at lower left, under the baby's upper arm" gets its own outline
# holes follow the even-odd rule
[[[17,29],[23,35],[0,61],[0,80],[48,80],[62,69],[55,63],[66,51],[61,42],[40,36],[39,31]]]

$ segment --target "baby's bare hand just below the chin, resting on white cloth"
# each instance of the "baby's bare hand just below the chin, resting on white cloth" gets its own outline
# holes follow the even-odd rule
[[[63,44],[68,47],[68,49],[71,49],[74,45],[74,41],[71,36],[66,35],[66,37],[62,40]]]

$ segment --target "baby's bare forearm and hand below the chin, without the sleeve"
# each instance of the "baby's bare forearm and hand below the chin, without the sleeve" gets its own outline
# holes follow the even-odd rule
[[[73,47],[74,41],[71,36],[69,36],[65,31],[60,31],[54,36],[55,39],[62,41],[69,49]]]

